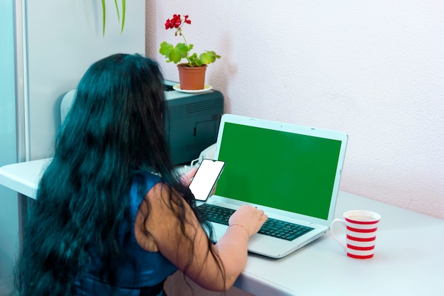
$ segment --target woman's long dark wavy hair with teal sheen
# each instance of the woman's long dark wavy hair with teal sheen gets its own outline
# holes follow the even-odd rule
[[[19,295],[71,295],[91,261],[90,246],[109,278],[118,276],[113,269],[126,259],[119,226],[128,218],[128,193],[140,170],[158,172],[199,219],[192,193],[174,173],[163,81],[157,63],[140,55],[111,55],[89,67],[26,221],[15,273]],[[170,204],[179,208],[183,230],[183,199],[170,194]]]

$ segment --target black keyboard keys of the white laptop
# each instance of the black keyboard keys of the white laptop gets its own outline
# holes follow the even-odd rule
[[[228,218],[235,212],[234,209],[218,207],[213,204],[202,204],[198,209],[207,220],[224,225],[228,225]],[[311,227],[268,218],[257,233],[293,241],[311,230],[313,230]]]

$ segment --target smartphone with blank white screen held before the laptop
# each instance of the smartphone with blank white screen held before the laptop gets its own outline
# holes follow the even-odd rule
[[[189,184],[189,190],[192,191],[197,201],[206,202],[206,199],[210,197],[224,166],[225,162],[221,160],[202,160],[196,175]]]

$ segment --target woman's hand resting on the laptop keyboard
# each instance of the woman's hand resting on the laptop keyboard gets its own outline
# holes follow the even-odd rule
[[[238,224],[245,227],[248,231],[248,235],[251,237],[253,234],[259,231],[262,224],[267,221],[268,216],[264,214],[262,209],[256,207],[250,207],[244,204],[236,212],[234,212],[230,219],[228,219],[228,225]]]

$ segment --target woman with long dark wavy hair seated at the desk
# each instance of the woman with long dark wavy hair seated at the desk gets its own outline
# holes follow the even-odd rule
[[[27,221],[20,295],[161,295],[177,268],[208,290],[233,285],[267,216],[241,207],[209,241],[191,176],[174,174],[165,112],[149,58],[117,54],[89,67]]]

